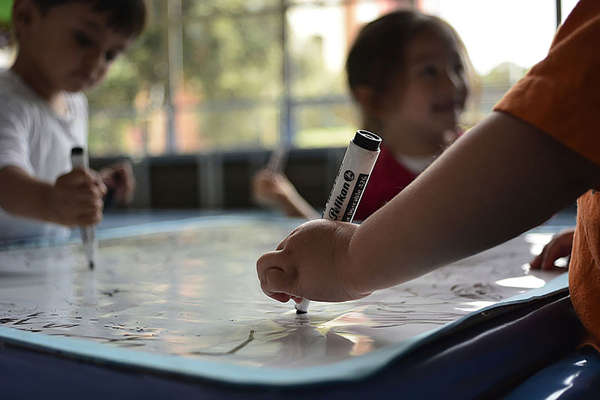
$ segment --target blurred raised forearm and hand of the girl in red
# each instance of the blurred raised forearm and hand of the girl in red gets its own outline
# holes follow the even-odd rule
[[[316,219],[320,215],[304,197],[300,196],[292,182],[285,176],[267,169],[254,174],[253,196],[259,202],[274,205],[288,216]]]

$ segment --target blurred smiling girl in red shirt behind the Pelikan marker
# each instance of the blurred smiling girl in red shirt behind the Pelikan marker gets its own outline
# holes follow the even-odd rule
[[[355,214],[365,219],[457,138],[458,117],[473,74],[454,28],[410,10],[394,11],[365,25],[348,54],[346,73],[362,128],[383,139]],[[256,199],[287,215],[319,217],[283,175],[261,170],[253,183]]]

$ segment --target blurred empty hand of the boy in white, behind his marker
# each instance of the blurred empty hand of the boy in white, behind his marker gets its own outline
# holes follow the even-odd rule
[[[136,180],[129,161],[119,161],[101,169],[100,176],[108,188],[108,194],[104,199],[106,206],[131,202],[133,191],[136,188]]]

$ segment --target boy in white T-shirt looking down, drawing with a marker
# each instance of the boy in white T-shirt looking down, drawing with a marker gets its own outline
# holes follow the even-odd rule
[[[143,0],[15,0],[19,49],[0,71],[0,240],[68,236],[68,227],[100,221],[103,179],[71,172],[71,148],[87,144],[81,91],[103,79],[145,19]],[[127,167],[103,175],[128,196]]]

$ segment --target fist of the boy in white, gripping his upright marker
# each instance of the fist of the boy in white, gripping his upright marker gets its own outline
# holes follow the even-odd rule
[[[97,172],[75,169],[59,176],[50,193],[55,222],[85,226],[101,221],[106,186]]]

